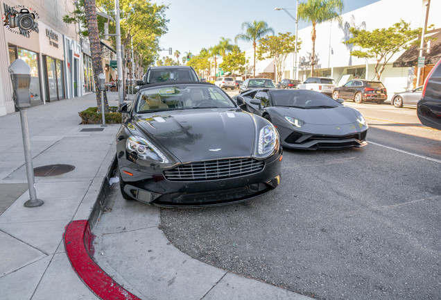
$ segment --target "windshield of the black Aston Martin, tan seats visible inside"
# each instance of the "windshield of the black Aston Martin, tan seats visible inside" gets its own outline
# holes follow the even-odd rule
[[[163,85],[139,92],[137,113],[193,108],[236,108],[220,88],[213,85]]]

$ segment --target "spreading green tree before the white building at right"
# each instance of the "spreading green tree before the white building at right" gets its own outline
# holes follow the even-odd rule
[[[401,19],[389,28],[366,31],[351,27],[349,31],[353,37],[344,43],[353,44],[354,47],[359,48],[351,51],[351,55],[358,58],[375,58],[377,63],[374,79],[380,80],[390,58],[395,53],[408,49],[412,45],[410,41],[421,35],[422,28],[411,29],[410,23]]]

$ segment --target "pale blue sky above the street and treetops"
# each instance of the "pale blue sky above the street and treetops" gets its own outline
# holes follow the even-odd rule
[[[302,3],[306,0],[299,0]],[[379,0],[344,0],[344,12],[369,5]],[[171,47],[173,53],[191,51],[199,53],[203,47],[209,48],[218,44],[220,37],[230,38],[242,33],[242,23],[265,21],[275,33],[295,33],[295,21],[282,10],[275,7],[294,8],[289,10],[295,17],[295,0],[157,0],[167,4],[166,18],[168,33],[160,40],[160,47]],[[299,29],[309,26],[299,22]],[[252,47],[250,42],[237,43],[242,51]],[[162,51],[160,57],[168,55]]]

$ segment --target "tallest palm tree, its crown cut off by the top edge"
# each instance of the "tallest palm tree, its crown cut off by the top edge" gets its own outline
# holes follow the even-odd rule
[[[311,40],[313,49],[311,54],[311,77],[314,74],[315,63],[315,26],[331,19],[341,20],[340,14],[343,11],[342,0],[308,0],[299,4],[298,17],[306,22],[312,23]]]

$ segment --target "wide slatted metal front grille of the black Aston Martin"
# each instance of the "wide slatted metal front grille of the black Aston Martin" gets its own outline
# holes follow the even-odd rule
[[[168,181],[207,181],[261,172],[265,163],[253,158],[207,160],[179,165],[164,172]]]

